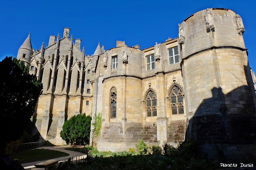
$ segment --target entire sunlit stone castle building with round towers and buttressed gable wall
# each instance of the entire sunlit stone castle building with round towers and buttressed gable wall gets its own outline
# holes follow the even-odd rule
[[[34,113],[42,139],[62,145],[66,119],[86,113],[94,122],[99,112],[98,150],[136,148],[140,139],[176,146],[185,135],[202,143],[255,139],[254,72],[234,11],[196,12],[179,24],[178,38],[143,50],[116,41],[86,56],[69,32],[36,51],[28,36],[18,51],[44,86]]]

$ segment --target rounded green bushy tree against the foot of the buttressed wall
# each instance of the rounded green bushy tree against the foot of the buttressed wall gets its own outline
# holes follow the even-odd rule
[[[60,137],[67,144],[83,145],[84,142],[90,140],[92,117],[82,115],[74,115],[64,122]]]

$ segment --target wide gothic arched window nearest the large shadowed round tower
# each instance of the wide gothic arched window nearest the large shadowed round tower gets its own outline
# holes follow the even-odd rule
[[[173,115],[184,113],[183,95],[180,88],[173,86],[170,92],[171,112]]]

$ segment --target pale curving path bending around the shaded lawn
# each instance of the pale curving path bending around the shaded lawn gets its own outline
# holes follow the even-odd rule
[[[58,159],[58,160],[65,160],[68,159],[70,157],[76,157],[76,156],[80,156],[80,159],[84,156],[86,157],[86,154],[84,153],[80,153],[80,152],[75,152],[75,151],[71,151],[71,150],[66,150],[65,148],[70,148],[71,146],[64,146],[64,147],[40,147],[40,148],[36,148],[36,149],[50,149],[50,150],[58,150],[61,152],[66,152],[69,154],[69,156],[64,156],[64,157],[60,157],[60,158],[54,158],[54,159]],[[50,160],[50,159],[48,159]],[[76,159],[73,159],[73,161]],[[21,164],[25,169],[29,170],[31,168],[34,168],[35,164],[39,164],[40,162],[44,162],[46,160],[40,160],[40,161],[36,161],[36,162],[29,162],[26,164]]]

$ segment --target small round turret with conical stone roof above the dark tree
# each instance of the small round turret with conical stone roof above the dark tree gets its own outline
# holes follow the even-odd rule
[[[28,33],[28,37],[24,41],[24,43],[18,49],[17,59],[25,62],[25,66],[30,65],[30,57],[33,54],[32,45],[30,41],[30,33]]]

